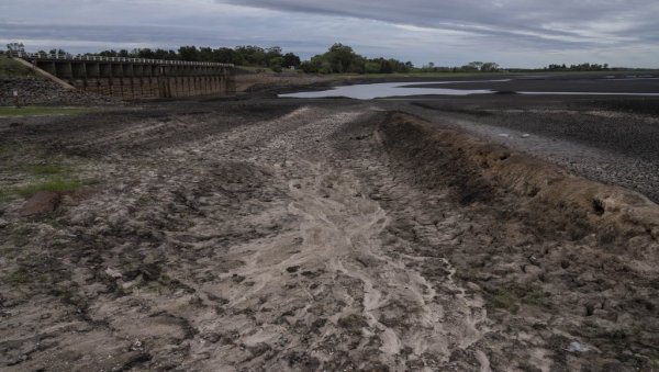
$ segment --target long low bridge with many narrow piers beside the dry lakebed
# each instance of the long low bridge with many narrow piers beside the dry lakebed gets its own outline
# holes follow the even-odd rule
[[[11,57],[67,89],[129,100],[235,93],[231,64],[23,52]]]

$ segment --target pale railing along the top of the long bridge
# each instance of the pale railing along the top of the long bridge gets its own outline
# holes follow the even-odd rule
[[[167,59],[148,59],[148,58],[126,58],[126,57],[105,57],[90,55],[71,55],[71,54],[51,54],[51,53],[25,53],[13,52],[12,57],[23,59],[42,59],[42,60],[80,60],[80,61],[100,61],[100,63],[123,63],[123,64],[146,64],[146,65],[166,65],[166,66],[206,66],[206,67],[234,67],[233,64],[206,63],[206,61],[188,61],[188,60],[167,60]]]

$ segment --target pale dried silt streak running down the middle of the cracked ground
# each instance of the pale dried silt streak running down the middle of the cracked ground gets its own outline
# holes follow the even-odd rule
[[[276,314],[263,318],[259,330],[225,316],[224,327],[239,335],[253,335],[245,339],[247,347],[287,339],[287,347],[271,357],[270,367],[277,360],[283,369],[306,370],[308,364],[297,364],[295,360],[301,359],[330,369],[433,369],[450,365],[454,347],[467,349],[480,337],[476,324],[482,319],[443,322],[447,312],[456,317],[471,314],[476,306],[474,302],[465,301],[465,290],[450,275],[448,292],[462,294],[457,301],[453,295],[438,295],[437,283],[426,281],[410,264],[423,258],[393,258],[382,250],[381,236],[390,217],[367,196],[368,187],[351,170],[354,160],[342,159],[327,145],[327,136],[365,115],[369,113],[327,114],[303,108],[272,121],[272,126],[243,127],[226,138],[204,144],[206,149],[223,148],[223,155],[231,157],[258,148],[257,159],[250,161],[271,165],[273,178],[289,189],[290,202],[286,211],[277,213],[288,213],[292,218],[287,218],[298,223],[272,238],[233,247],[227,253],[246,264],[223,279],[231,283],[237,275],[249,288],[231,283],[211,290],[227,294],[227,308],[279,307],[290,326],[306,329],[302,324],[323,324],[317,336],[300,337],[278,326],[282,320],[272,318]],[[282,133],[272,135],[272,131]],[[237,151],[230,145],[245,143],[249,146]],[[362,160],[356,167],[383,169]],[[443,263],[451,269],[445,259]],[[235,328],[236,324],[242,326]],[[342,343],[350,347],[346,349]]]

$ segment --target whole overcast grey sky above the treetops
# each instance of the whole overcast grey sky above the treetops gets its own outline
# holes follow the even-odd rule
[[[659,68],[659,0],[0,0],[0,43],[31,52],[340,42],[458,66],[608,63]]]

